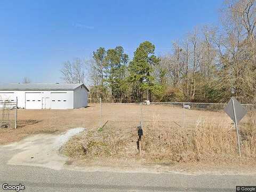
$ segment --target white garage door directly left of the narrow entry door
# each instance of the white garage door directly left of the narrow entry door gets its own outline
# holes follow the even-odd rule
[[[42,94],[25,93],[26,94],[26,109],[42,109]]]

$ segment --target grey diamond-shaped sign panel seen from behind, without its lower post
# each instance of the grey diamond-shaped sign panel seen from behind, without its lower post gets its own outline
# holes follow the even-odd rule
[[[234,101],[234,107],[233,107],[233,101]],[[234,113],[235,108],[235,113]],[[225,108],[226,113],[228,116],[233,120],[234,123],[239,123],[239,121],[246,115],[247,110],[239,103],[239,101],[236,100],[235,97],[232,97]],[[236,115],[236,121],[235,121],[235,115]]]

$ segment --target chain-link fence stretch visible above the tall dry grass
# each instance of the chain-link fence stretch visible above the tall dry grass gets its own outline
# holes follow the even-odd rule
[[[100,101],[99,101],[100,102]],[[152,125],[193,129],[199,124],[229,124],[233,122],[225,113],[226,103],[151,102],[151,103],[100,103],[100,127],[107,124]],[[243,105],[247,114],[239,123],[256,121],[256,105]],[[116,125],[115,125],[116,126]]]

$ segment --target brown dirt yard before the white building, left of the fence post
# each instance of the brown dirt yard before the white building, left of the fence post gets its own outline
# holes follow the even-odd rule
[[[99,125],[99,108],[91,105],[87,108],[68,110],[18,110],[18,128],[0,129],[0,145],[20,141],[32,134],[59,134],[75,127],[94,129]]]

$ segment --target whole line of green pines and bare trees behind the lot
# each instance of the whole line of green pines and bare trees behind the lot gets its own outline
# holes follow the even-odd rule
[[[172,43],[172,52],[155,54],[142,42],[130,60],[122,46],[93,52],[89,61],[67,61],[68,83],[81,83],[89,71],[90,98],[124,102],[226,102],[235,96],[256,101],[256,1],[225,1],[220,26],[195,27]]]

